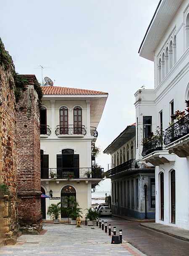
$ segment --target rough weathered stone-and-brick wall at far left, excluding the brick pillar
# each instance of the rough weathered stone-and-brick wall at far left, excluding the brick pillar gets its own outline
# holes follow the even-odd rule
[[[17,153],[14,66],[0,65],[0,184],[8,187],[0,193],[0,236],[14,244],[17,234]],[[8,195],[6,195],[8,194]]]

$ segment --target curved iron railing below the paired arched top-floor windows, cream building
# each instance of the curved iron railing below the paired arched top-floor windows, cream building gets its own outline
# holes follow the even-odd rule
[[[58,135],[86,135],[87,131],[84,125],[57,125],[55,134]]]

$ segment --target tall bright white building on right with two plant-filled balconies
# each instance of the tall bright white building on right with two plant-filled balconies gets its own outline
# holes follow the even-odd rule
[[[155,166],[156,222],[189,229],[189,115],[171,118],[189,99],[188,0],[159,2],[139,55],[154,61],[155,84],[135,93],[136,159]]]

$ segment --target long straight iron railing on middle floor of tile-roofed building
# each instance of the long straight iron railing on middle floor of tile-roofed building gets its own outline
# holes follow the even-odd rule
[[[104,168],[41,168],[41,179],[102,179]]]

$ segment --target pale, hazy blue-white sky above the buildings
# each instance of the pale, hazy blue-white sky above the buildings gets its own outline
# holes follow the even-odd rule
[[[40,83],[47,76],[55,86],[109,93],[96,141],[102,149],[96,163],[105,171],[110,155],[103,150],[135,122],[134,93],[154,87],[153,62],[138,50],[158,2],[1,1],[0,37],[16,72],[34,74]],[[110,179],[100,185],[109,187]]]

